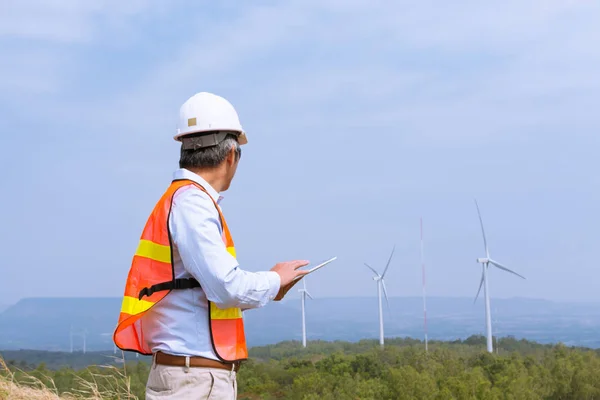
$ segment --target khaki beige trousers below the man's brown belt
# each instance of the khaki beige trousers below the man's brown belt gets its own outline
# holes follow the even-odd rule
[[[218,368],[152,363],[146,383],[146,400],[154,399],[235,400],[236,373]]]

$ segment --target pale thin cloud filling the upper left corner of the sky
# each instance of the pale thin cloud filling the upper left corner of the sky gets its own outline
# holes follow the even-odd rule
[[[58,117],[73,104],[56,100],[73,79],[69,71],[85,70],[86,50],[119,48],[139,39],[142,16],[157,17],[170,3],[160,0],[7,0],[0,2],[0,101],[13,107],[44,103],[40,112]],[[82,99],[93,97],[82,87]],[[46,95],[43,97],[42,95]],[[38,97],[39,96],[39,97]],[[49,99],[52,103],[49,104]],[[41,104],[40,104],[41,105]],[[58,109],[58,110],[57,110]]]

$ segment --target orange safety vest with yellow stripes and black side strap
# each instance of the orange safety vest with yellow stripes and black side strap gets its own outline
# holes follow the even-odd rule
[[[146,222],[137,251],[133,256],[125,285],[119,322],[113,334],[113,341],[121,350],[151,355],[152,351],[144,340],[142,332],[142,316],[165,298],[171,290],[200,287],[194,278],[175,279],[173,248],[168,227],[171,203],[175,192],[190,185],[207,193],[202,186],[191,180],[174,180]],[[223,242],[229,254],[235,257],[233,239],[225,218],[214,200],[213,203],[223,225]],[[211,301],[208,301],[208,310],[211,342],[217,357],[221,361],[247,359],[248,349],[242,310],[239,308],[221,309]]]

